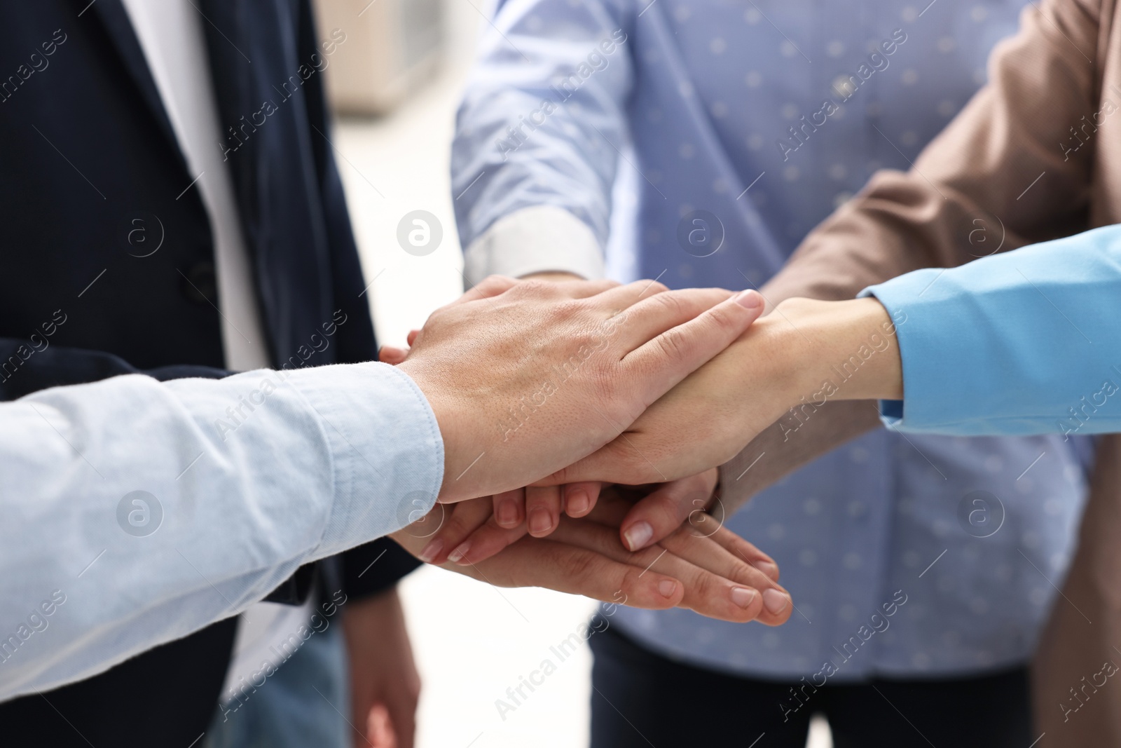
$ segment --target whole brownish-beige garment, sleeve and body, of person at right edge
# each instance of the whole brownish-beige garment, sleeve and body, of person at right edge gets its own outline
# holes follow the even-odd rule
[[[1032,3],[990,59],[991,83],[906,174],[882,172],[763,289],[847,298],[921,267],[1121,220],[1121,30],[1115,0]],[[869,404],[819,412],[806,438],[773,428],[722,471],[733,506],[874,425]],[[840,406],[840,407],[839,407]],[[769,460],[759,459],[765,452]],[[742,473],[750,461],[751,470]],[[739,480],[736,480],[739,478]],[[1039,748],[1121,746],[1121,436],[1097,450],[1077,554],[1032,673]]]

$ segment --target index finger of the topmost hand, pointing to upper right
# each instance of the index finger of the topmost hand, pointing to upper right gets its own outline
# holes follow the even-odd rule
[[[623,364],[652,403],[731,345],[759,317],[762,308],[763,297],[759,292],[740,292],[640,345],[623,358]]]

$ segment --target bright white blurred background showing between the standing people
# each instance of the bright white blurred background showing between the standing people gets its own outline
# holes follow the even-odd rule
[[[448,158],[455,108],[489,6],[445,0],[445,58],[436,76],[388,116],[336,123],[339,168],[365,280],[372,281],[369,296],[382,344],[404,344],[409,329],[462,293]],[[397,243],[398,222],[415,210],[435,214],[443,228],[439,248],[425,257]],[[495,700],[550,657],[550,646],[589,620],[592,601],[537,589],[498,589],[433,567],[409,575],[401,590],[424,680],[418,748],[587,745],[586,647],[559,663],[545,685],[504,720]],[[815,724],[809,748],[831,746],[827,727]]]

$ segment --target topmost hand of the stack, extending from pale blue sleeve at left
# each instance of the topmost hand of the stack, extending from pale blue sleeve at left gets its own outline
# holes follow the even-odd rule
[[[527,486],[594,452],[761,308],[756,292],[488,278],[434,312],[398,364],[436,414],[441,501]]]

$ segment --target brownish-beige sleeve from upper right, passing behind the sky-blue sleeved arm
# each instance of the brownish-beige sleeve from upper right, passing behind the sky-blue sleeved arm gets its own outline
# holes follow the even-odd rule
[[[768,304],[852,298],[910,270],[956,266],[1088,228],[1094,117],[1103,117],[1102,12],[1093,0],[1029,6],[1019,34],[993,52],[989,85],[909,172],[876,174],[817,227],[762,288]],[[1074,135],[1085,141],[1077,150],[1083,140]],[[877,426],[869,401],[830,403],[793,434],[771,426],[724,467],[725,509]]]

